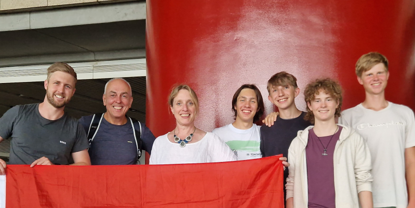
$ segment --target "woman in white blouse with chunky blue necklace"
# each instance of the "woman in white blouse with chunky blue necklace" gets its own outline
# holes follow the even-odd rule
[[[150,164],[237,160],[232,150],[217,135],[194,126],[199,102],[192,88],[185,84],[174,87],[168,104],[176,119],[176,128],[154,141]]]

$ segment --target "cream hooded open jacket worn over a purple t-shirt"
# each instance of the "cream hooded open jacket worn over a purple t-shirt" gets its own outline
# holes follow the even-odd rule
[[[333,156],[336,208],[359,208],[358,193],[372,191],[370,152],[359,133],[350,127],[338,126],[343,129]],[[290,167],[285,187],[287,199],[294,197],[294,208],[306,208],[308,205],[305,147],[308,142],[308,130],[311,128],[313,126],[298,131],[297,137],[288,149]]]

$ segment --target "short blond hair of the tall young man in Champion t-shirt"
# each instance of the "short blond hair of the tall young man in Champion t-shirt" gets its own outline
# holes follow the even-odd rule
[[[389,62],[386,56],[379,52],[369,52],[360,56],[358,62],[356,62],[356,75],[361,77],[363,72],[369,71],[376,64],[383,63],[385,65],[386,72],[388,71]]]

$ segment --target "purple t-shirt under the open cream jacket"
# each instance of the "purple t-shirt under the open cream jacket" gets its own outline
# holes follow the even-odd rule
[[[308,130],[305,147],[308,179],[308,208],[335,208],[333,153],[342,127],[334,135],[320,137],[313,129]],[[330,139],[332,141],[329,144]],[[323,156],[324,147],[327,147]],[[328,145],[328,146],[327,146]]]

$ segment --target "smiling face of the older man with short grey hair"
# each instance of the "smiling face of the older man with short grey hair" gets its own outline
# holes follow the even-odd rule
[[[122,118],[133,103],[130,86],[122,79],[114,79],[107,85],[102,97],[107,113],[112,118]],[[107,114],[106,113],[106,114]]]

